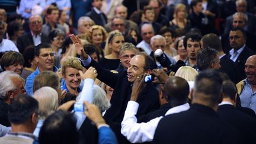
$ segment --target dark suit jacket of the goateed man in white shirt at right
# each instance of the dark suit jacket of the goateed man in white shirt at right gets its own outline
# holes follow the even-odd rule
[[[255,55],[255,52],[245,46],[245,49],[240,53],[235,63],[238,65],[238,78],[240,81],[246,78],[244,65],[249,56]],[[230,57],[230,55],[228,55]]]

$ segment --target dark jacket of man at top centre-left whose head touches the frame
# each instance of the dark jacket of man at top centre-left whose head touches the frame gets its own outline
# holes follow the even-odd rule
[[[103,15],[104,20],[101,18],[101,15]],[[103,12],[101,12],[101,14],[97,14],[97,12],[95,12],[93,8],[86,14],[86,16],[94,20],[95,24],[101,25],[102,27],[107,24],[107,17],[105,16],[105,14],[103,14]]]

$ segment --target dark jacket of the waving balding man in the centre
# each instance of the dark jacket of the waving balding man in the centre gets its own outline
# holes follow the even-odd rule
[[[130,94],[132,94],[132,83],[127,80],[127,71],[121,71],[118,74],[112,73],[102,68],[94,60],[89,66],[97,69],[97,78],[100,81],[114,88],[110,100],[111,107],[106,111],[104,118],[121,123],[127,103],[130,100]],[[151,83],[146,85],[146,88],[139,95],[137,103],[139,103],[139,109],[136,116],[147,114],[159,108],[158,91]]]

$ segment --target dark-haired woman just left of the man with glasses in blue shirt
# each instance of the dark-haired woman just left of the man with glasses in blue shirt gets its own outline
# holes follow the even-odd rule
[[[27,76],[36,71],[37,68],[37,61],[34,56],[34,47],[35,46],[33,45],[28,46],[23,52],[24,69],[21,73],[21,77],[24,79],[27,79]]]

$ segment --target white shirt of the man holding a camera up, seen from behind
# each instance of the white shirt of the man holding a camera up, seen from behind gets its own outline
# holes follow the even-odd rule
[[[156,117],[148,121],[147,123],[137,123],[137,109],[139,104],[135,101],[129,101],[124,113],[124,119],[121,122],[121,133],[132,143],[151,142],[155,135],[156,127],[159,121],[163,118]],[[173,107],[167,111],[165,116],[174,113],[180,113],[181,111],[188,110],[190,106],[188,103]]]

